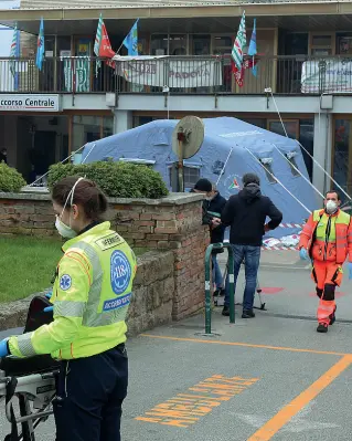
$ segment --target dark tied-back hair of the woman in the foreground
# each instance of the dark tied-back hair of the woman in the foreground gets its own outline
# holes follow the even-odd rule
[[[61,207],[64,207],[67,201],[66,208],[70,208],[72,204],[81,206],[84,209],[86,218],[94,221],[99,220],[102,214],[107,210],[108,203],[106,196],[93,180],[79,180],[75,187],[71,203],[71,190],[78,179],[79,176],[70,176],[56,182],[52,192],[53,201]]]

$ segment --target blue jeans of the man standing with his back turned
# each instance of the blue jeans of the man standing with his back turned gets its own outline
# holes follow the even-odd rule
[[[241,264],[245,263],[246,287],[243,295],[243,309],[252,309],[254,295],[257,287],[257,275],[260,261],[260,246],[232,245],[234,251],[234,291],[236,292],[236,282]],[[226,277],[224,305],[230,305],[228,295],[228,275]]]

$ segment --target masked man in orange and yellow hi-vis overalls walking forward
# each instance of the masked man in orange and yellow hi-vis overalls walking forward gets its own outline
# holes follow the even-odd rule
[[[335,321],[335,287],[342,282],[342,265],[349,256],[349,279],[352,279],[352,222],[350,214],[340,210],[339,193],[329,191],[324,209],[313,211],[299,241],[299,255],[312,260],[312,279],[317,283],[318,333],[327,333]]]

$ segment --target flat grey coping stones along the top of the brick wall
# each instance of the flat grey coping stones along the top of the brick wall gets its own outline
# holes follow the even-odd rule
[[[22,200],[51,200],[50,195],[41,193],[3,193],[0,192],[0,199],[22,199]],[[167,198],[147,199],[147,198],[108,198],[109,203],[137,204],[137,206],[183,206],[203,200],[200,193],[170,193]]]

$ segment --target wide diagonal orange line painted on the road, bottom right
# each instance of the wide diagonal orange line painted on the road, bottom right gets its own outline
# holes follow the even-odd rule
[[[323,389],[326,389],[335,378],[338,378],[352,363],[351,355],[341,358],[335,365],[327,370],[316,382],[303,390],[291,402],[285,406],[274,418],[265,423],[247,441],[268,441],[270,440],[295,414],[305,406],[313,400]]]

